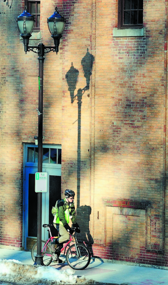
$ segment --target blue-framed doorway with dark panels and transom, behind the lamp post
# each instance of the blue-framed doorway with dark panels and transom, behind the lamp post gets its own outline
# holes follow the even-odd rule
[[[23,247],[30,250],[37,239],[37,195],[35,173],[38,172],[38,146],[24,144]],[[43,144],[43,172],[47,172],[47,192],[42,193],[42,224],[53,222],[51,209],[61,198],[61,146]],[[57,235],[52,226],[51,232]],[[42,227],[42,239],[48,232]]]

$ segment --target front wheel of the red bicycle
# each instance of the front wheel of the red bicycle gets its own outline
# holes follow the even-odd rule
[[[83,244],[77,244],[78,253],[75,245],[72,244],[67,250],[66,260],[68,265],[75,270],[85,269],[90,263],[90,251]]]

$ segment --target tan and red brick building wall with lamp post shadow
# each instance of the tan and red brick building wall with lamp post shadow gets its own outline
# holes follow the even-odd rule
[[[41,0],[41,39],[30,45],[53,45],[56,5],[67,23],[58,55],[45,55],[43,143],[62,146],[62,193],[76,193],[80,238],[99,258],[167,267],[167,2],[144,0],[144,35],[119,36],[117,1]],[[24,2],[0,9],[0,246],[22,248],[38,60],[19,40]]]

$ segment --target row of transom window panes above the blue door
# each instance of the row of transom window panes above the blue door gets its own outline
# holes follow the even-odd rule
[[[38,163],[38,146],[28,146],[26,162]],[[43,147],[43,163],[61,164],[61,148]]]

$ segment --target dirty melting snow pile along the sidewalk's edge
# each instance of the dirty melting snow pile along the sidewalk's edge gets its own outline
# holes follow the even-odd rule
[[[79,280],[77,275],[73,275],[74,272],[72,269],[60,271],[51,266],[36,267],[14,259],[0,259],[0,280],[16,284],[23,284],[23,281],[24,284],[37,284],[37,280],[54,281],[55,284],[82,284],[85,278]]]

